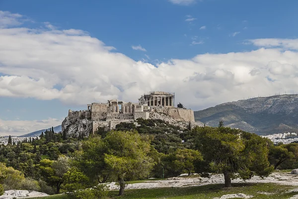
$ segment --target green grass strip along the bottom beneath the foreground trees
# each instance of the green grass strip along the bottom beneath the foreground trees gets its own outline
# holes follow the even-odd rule
[[[232,184],[230,188],[224,185],[204,185],[184,188],[156,188],[142,190],[126,190],[124,196],[117,196],[118,191],[110,191],[106,199],[213,199],[226,194],[246,194],[254,196],[252,199],[289,199],[298,193],[286,193],[295,189],[295,186],[270,183]],[[271,195],[265,195],[269,193]],[[54,195],[34,199],[70,199],[67,195]]]

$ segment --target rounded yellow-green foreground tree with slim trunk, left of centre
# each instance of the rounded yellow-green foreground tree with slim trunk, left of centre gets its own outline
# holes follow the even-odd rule
[[[148,177],[154,166],[149,157],[149,139],[142,138],[137,131],[110,131],[104,138],[108,153],[104,162],[112,177],[120,185],[119,196],[124,194],[125,178]]]

